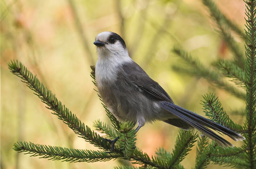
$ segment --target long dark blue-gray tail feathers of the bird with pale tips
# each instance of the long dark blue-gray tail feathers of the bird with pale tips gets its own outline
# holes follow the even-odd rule
[[[245,139],[243,136],[236,133],[235,131],[230,130],[227,127],[224,127],[218,123],[215,123],[212,120],[209,120],[207,118],[199,116],[198,114],[193,113],[192,111],[183,109],[180,106],[177,106],[170,102],[164,102],[164,101],[160,102],[160,105],[163,109],[171,112],[173,115],[179,117],[181,120],[190,124],[197,130],[203,132],[207,137],[216,141],[222,147],[228,147],[228,146],[233,146],[233,145],[231,143],[229,143],[227,140],[225,140],[224,138],[222,138],[219,135],[217,135],[216,133],[214,133],[212,130],[208,129],[207,127],[211,128],[215,131],[220,131],[235,141],[237,141],[237,140],[242,141]]]

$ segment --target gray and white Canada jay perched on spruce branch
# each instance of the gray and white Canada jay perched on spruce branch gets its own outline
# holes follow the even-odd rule
[[[235,141],[245,139],[227,127],[175,105],[164,89],[129,57],[125,42],[118,34],[101,32],[95,40],[96,84],[103,102],[117,120],[137,123],[136,132],[146,122],[156,120],[184,130],[196,128],[221,146],[233,145],[209,128]]]

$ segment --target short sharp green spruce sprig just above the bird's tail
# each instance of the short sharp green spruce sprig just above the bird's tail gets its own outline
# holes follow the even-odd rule
[[[201,103],[203,105],[203,112],[206,116],[210,117],[216,123],[219,123],[231,130],[236,131],[237,133],[245,133],[246,130],[243,127],[235,122],[233,122],[226,111],[221,107],[218,97],[212,93],[203,95],[204,101]]]

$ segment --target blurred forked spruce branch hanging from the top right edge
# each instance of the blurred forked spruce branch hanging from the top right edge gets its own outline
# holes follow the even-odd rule
[[[243,39],[245,38],[244,33],[241,34],[242,31],[239,31],[240,29],[238,26],[225,17],[212,0],[203,0],[203,4],[209,9],[212,19],[216,22],[218,29],[220,30],[220,37],[227,43],[229,50],[235,55],[239,67],[243,68],[244,54],[239,49],[239,46],[236,44],[230,32],[225,28],[224,24],[228,24],[228,26],[231,26],[231,29],[238,31],[237,33],[239,33]]]

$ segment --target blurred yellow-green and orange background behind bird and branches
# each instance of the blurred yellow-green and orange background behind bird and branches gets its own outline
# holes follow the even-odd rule
[[[244,28],[243,1],[222,0],[216,4]],[[243,124],[243,115],[229,113],[244,108],[243,100],[204,78],[172,69],[173,65],[182,65],[182,60],[172,53],[176,44],[205,65],[219,58],[231,58],[215,28],[200,0],[1,0],[1,168],[76,169],[120,165],[118,160],[51,161],[12,150],[12,144],[20,140],[97,150],[52,115],[20,78],[8,70],[7,63],[12,59],[21,61],[93,129],[97,119],[110,123],[90,77],[90,65],[97,61],[94,38],[103,31],[121,35],[132,59],[159,82],[176,104],[204,115],[200,100],[202,95],[213,92],[230,118]],[[236,36],[235,40],[243,48],[243,42]],[[159,147],[172,151],[178,130],[162,122],[147,124],[137,133],[137,146],[149,155],[155,154]],[[185,168],[194,167],[195,153],[196,146],[182,161]],[[209,168],[216,166],[209,165]]]

